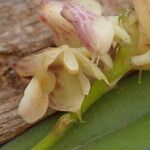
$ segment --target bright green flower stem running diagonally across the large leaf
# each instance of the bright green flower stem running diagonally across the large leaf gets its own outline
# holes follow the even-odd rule
[[[117,53],[113,69],[109,73],[106,73],[107,79],[110,83],[120,79],[132,70],[133,67],[129,62],[131,55],[132,48],[128,46],[122,47]],[[95,81],[89,95],[84,99],[81,107],[81,115],[111,88],[112,87],[107,85],[104,81]],[[40,143],[38,143],[33,150],[47,150],[52,147],[65,134],[71,125],[77,121],[78,117],[73,113],[63,115],[52,128],[51,132],[42,141],[40,141]]]

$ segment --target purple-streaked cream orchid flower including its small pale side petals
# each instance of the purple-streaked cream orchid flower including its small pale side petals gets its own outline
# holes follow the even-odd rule
[[[110,68],[113,61],[108,52],[114,36],[131,43],[129,34],[119,26],[119,17],[104,17],[102,13],[88,10],[75,2],[64,5],[61,14],[74,26],[83,45],[92,53],[93,60],[101,59]],[[114,21],[114,18],[117,20]]]

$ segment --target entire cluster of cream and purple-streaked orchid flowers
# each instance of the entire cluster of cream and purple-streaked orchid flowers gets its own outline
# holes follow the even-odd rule
[[[140,11],[137,1],[134,0],[136,10]],[[149,16],[149,11],[143,13]],[[148,20],[140,14],[140,45],[146,46],[149,28],[142,24]],[[53,31],[57,47],[27,56],[15,66],[20,76],[32,77],[18,110],[28,123],[40,119],[48,107],[80,113],[93,80],[110,84],[105,71],[113,68],[118,45],[134,45],[139,39],[132,30],[134,26],[139,31],[135,14],[127,20],[125,15],[103,16],[102,7],[95,0],[43,0],[40,19]],[[149,51],[138,54],[131,59],[132,64],[147,67]]]

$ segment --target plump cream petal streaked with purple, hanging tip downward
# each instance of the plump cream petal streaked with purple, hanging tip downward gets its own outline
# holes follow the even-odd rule
[[[76,3],[67,3],[62,15],[75,27],[88,50],[98,54],[109,51],[115,32],[111,21]]]

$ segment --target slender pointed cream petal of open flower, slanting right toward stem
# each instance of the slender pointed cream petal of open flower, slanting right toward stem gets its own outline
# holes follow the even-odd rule
[[[83,54],[76,52],[76,57],[78,59],[79,66],[81,67],[81,70],[88,76],[91,76],[98,80],[104,80],[106,83],[108,83],[108,80],[106,79],[105,75],[102,73],[102,71],[96,66],[96,64],[92,63],[87,57],[85,57]]]

